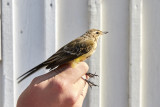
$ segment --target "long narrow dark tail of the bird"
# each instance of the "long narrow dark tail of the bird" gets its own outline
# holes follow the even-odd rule
[[[41,63],[39,65],[37,65],[36,67],[32,68],[31,70],[25,72],[24,74],[22,74],[21,76],[19,76],[17,78],[18,83],[20,83],[21,81],[23,81],[25,78],[27,78],[28,76],[30,76],[31,74],[35,73],[37,70],[41,69],[42,67],[44,67],[45,64]]]

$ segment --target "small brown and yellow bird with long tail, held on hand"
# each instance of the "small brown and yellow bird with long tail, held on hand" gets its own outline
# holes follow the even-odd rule
[[[71,67],[75,67],[77,63],[85,61],[96,50],[98,39],[101,35],[107,34],[98,29],[89,29],[82,36],[72,40],[68,44],[61,47],[56,53],[49,57],[46,61],[40,63],[31,70],[25,72],[17,78],[18,83],[32,75],[39,69],[45,67],[46,69],[54,69],[60,65],[70,63]],[[87,73],[89,77],[97,76],[95,74]],[[94,83],[84,79],[90,85],[96,86]]]

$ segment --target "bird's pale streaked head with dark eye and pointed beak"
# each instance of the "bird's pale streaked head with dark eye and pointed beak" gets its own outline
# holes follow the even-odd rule
[[[86,34],[88,36],[93,36],[93,37],[96,37],[98,38],[99,36],[101,35],[104,35],[104,34],[107,34],[108,32],[103,32],[103,31],[100,31],[98,29],[90,29],[86,32]]]

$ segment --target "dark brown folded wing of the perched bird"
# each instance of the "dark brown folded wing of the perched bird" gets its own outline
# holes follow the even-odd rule
[[[54,55],[48,58],[44,64],[48,64],[47,69],[62,65],[88,53],[92,50],[93,45],[94,41],[92,40],[82,41],[81,39],[76,39],[59,49]]]

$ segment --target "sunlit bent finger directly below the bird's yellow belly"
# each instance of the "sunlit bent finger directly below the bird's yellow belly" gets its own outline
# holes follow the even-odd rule
[[[75,68],[68,67],[63,72],[61,72],[57,76],[61,76],[65,80],[71,81],[75,83],[78,81],[83,75],[85,75],[88,71],[89,67],[85,62],[80,62],[77,64]]]

